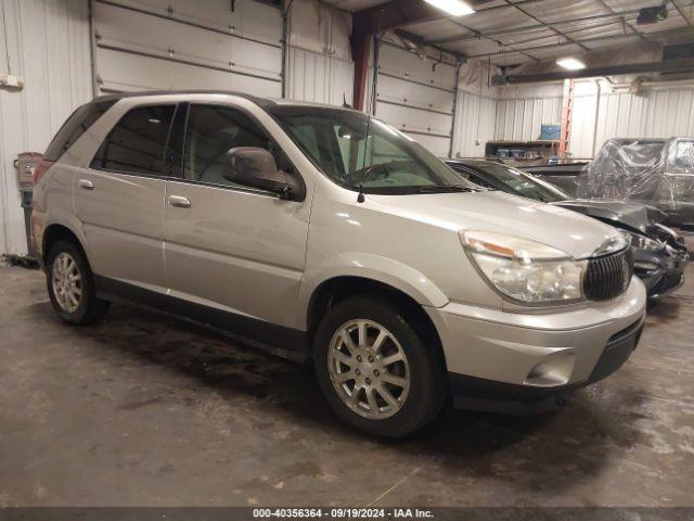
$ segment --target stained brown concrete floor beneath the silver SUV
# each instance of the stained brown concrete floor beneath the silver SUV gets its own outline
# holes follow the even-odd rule
[[[561,410],[380,442],[304,367],[126,305],[66,327],[41,272],[0,268],[0,506],[691,506],[693,339],[690,267],[631,360]]]

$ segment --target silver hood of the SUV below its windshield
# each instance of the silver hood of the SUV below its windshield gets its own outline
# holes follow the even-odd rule
[[[451,230],[507,233],[586,258],[620,232],[579,213],[497,191],[375,195],[376,208]],[[374,208],[374,209],[376,209]]]

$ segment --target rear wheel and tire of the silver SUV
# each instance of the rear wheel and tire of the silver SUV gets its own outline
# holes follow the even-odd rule
[[[85,325],[102,319],[110,303],[97,297],[87,257],[70,241],[57,241],[46,263],[48,294],[55,314],[66,323]]]

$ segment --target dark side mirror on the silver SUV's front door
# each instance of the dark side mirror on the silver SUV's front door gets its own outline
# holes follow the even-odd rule
[[[303,199],[304,187],[291,174],[278,168],[272,154],[258,147],[236,147],[227,152],[226,179],[244,187],[278,193],[282,199]]]

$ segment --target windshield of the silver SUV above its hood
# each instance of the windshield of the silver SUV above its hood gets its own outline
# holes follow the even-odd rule
[[[383,194],[476,190],[416,141],[377,119],[368,123],[362,113],[296,105],[269,112],[342,187]]]

